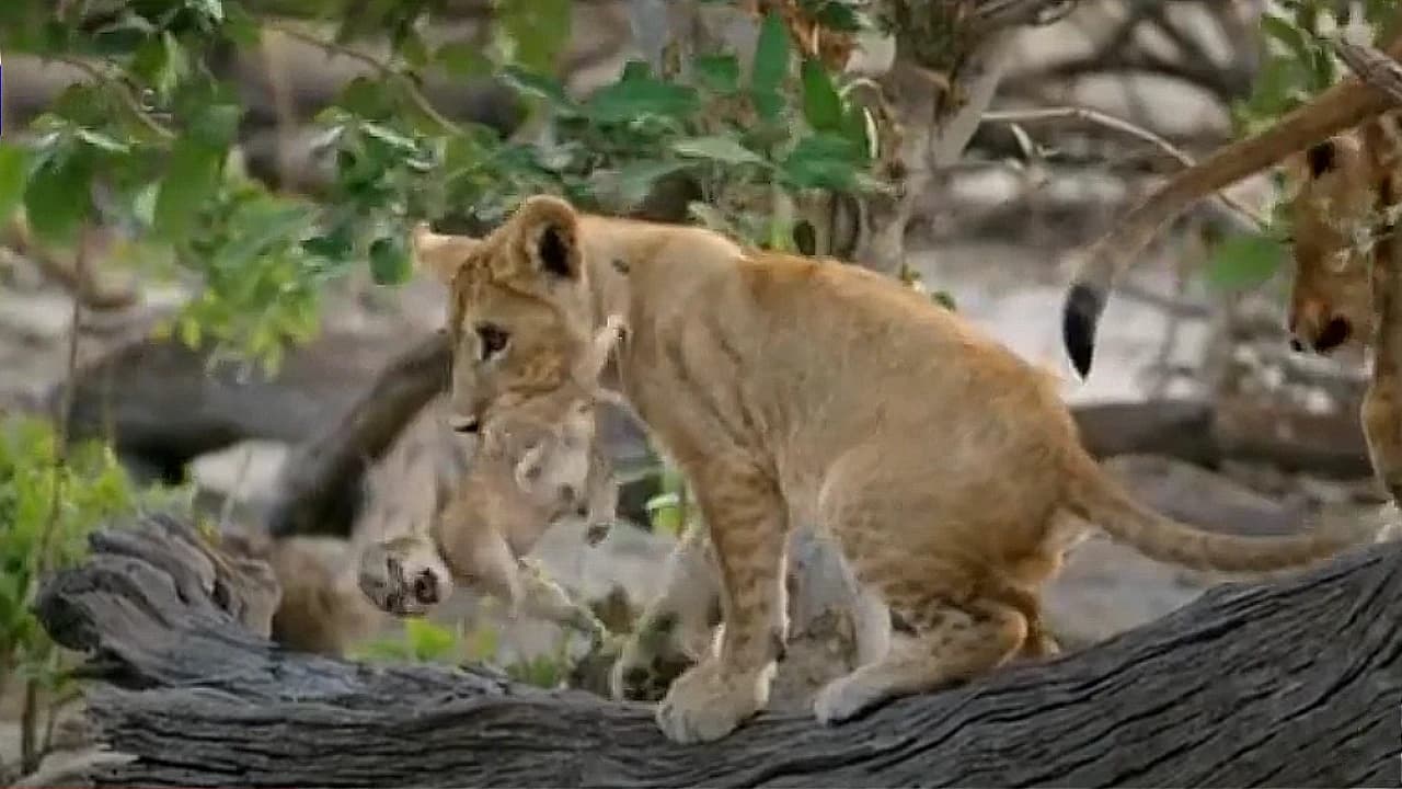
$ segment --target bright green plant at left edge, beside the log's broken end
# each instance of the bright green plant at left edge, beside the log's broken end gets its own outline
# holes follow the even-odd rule
[[[39,585],[83,559],[100,524],[168,505],[179,494],[133,487],[102,444],[60,451],[48,421],[0,420],[0,694],[22,684],[20,772],[34,769],[48,747],[39,738],[48,729],[43,699],[69,692],[60,651],[32,611]],[[50,719],[53,712],[50,706]]]

